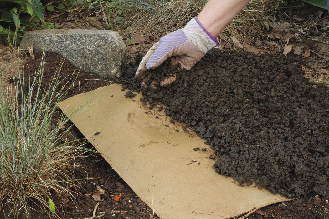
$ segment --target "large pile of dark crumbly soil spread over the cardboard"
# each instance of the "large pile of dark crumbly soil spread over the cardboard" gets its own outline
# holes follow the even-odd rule
[[[122,82],[136,90],[132,72]],[[216,172],[289,198],[311,189],[329,196],[324,84],[310,84],[291,60],[218,50],[190,71],[167,62],[148,71],[145,83],[173,72],[177,80],[171,86],[143,91],[143,101],[151,108],[163,103],[167,115],[206,139],[219,157]]]

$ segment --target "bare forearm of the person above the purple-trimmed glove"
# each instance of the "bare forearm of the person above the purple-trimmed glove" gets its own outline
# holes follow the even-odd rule
[[[197,16],[206,30],[217,37],[250,0],[209,0]]]

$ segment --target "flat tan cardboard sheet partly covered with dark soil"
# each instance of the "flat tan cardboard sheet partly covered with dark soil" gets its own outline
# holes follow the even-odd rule
[[[61,102],[60,108],[71,115],[85,104],[72,122],[159,217],[231,218],[287,201],[216,173],[215,161],[209,159],[214,151],[205,140],[170,123],[164,111],[149,110],[139,101],[140,94],[125,98],[121,88],[112,84],[79,94]]]

